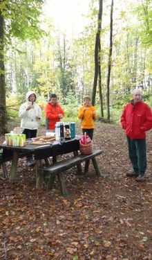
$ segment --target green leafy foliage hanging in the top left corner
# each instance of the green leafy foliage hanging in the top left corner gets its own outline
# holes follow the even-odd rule
[[[12,37],[21,40],[39,39],[44,31],[40,29],[39,17],[44,0],[1,1],[1,15],[6,21],[5,39],[10,44]]]

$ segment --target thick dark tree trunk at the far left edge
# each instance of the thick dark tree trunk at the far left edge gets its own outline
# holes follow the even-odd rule
[[[5,67],[3,60],[4,52],[4,19],[0,11],[0,133],[6,132],[7,113],[6,113],[6,86],[5,86]]]

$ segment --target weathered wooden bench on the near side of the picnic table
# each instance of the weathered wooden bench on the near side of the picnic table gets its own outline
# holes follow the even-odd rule
[[[95,158],[97,155],[101,155],[102,150],[94,150],[91,155],[76,155],[74,157],[71,157],[70,159],[65,159],[61,162],[56,162],[52,166],[47,166],[46,168],[39,168],[37,170],[37,174],[39,175],[39,178],[43,181],[44,177],[48,177],[48,185],[47,190],[53,189],[53,183],[55,181],[55,176],[57,175],[59,180],[59,185],[61,189],[62,195],[67,195],[66,190],[66,183],[64,180],[63,172],[68,170],[68,168],[71,168],[77,164],[81,164],[82,162],[86,162],[89,159],[92,160],[93,166],[95,168],[95,173],[97,176],[103,176],[102,173],[99,171],[99,166],[97,164],[97,159]]]

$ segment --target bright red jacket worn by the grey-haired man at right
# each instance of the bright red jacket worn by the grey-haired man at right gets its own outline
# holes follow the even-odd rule
[[[146,103],[133,101],[124,107],[121,116],[122,128],[126,130],[126,135],[131,139],[145,139],[146,133],[152,128],[151,108]]]

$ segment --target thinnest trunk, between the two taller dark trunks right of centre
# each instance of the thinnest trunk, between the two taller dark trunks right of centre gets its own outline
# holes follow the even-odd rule
[[[99,53],[101,53],[101,42],[99,38]],[[98,84],[99,84],[99,101],[100,101],[100,112],[101,116],[104,117],[104,107],[103,107],[103,96],[102,96],[102,73],[101,73],[101,55],[99,55],[99,65],[98,65]]]

